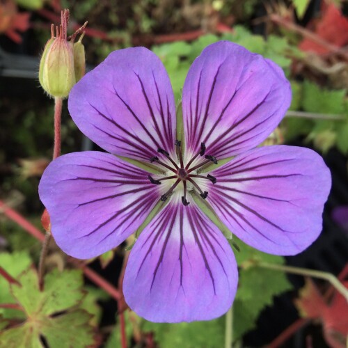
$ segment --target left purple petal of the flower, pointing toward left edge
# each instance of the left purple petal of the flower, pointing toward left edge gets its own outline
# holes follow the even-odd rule
[[[42,175],[42,203],[52,235],[75,258],[93,258],[122,243],[159,199],[148,173],[103,152],[73,152]]]

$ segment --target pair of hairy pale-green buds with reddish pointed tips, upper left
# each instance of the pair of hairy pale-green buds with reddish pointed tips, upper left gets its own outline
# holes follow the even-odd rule
[[[61,25],[56,27],[56,35],[52,24],[51,38],[45,45],[40,61],[39,81],[52,97],[68,97],[72,86],[84,76],[86,69],[85,50],[81,42],[84,33],[78,42],[74,43],[74,39],[84,31],[87,23],[67,38],[68,21],[69,10],[64,10]]]

